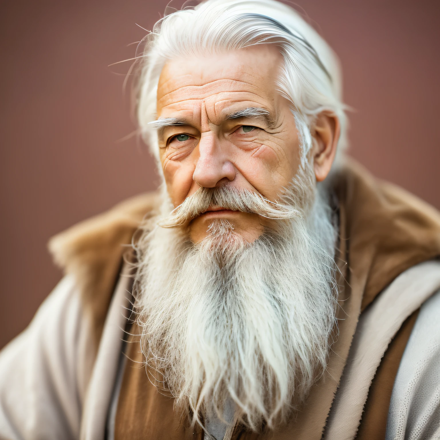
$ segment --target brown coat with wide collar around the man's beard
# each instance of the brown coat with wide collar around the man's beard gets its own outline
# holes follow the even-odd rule
[[[332,181],[339,201],[341,270],[339,336],[326,372],[313,387],[304,407],[277,432],[255,434],[236,427],[240,439],[319,439],[337,391],[359,315],[398,275],[440,255],[440,215],[411,194],[375,180],[354,162],[348,162]],[[55,237],[51,249],[67,271],[79,274],[83,301],[94,323],[99,343],[103,322],[120,267],[122,244],[145,214],[158,205],[157,195],[140,196],[99,219]],[[384,438],[392,384],[415,315],[403,324],[389,346],[371,384],[357,438]],[[136,343],[129,357],[142,361]],[[128,363],[116,419],[117,439],[200,438],[173,412],[172,399],[159,394],[143,368]]]

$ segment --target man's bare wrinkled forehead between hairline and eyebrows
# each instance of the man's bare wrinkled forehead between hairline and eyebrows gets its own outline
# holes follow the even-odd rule
[[[214,122],[223,110],[270,107],[282,56],[268,44],[167,62],[158,83],[158,117],[194,111],[205,104]]]

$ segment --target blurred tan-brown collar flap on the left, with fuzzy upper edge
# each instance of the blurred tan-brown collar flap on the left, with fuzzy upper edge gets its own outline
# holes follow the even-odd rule
[[[81,308],[90,320],[91,337],[96,347],[122,257],[131,249],[133,234],[143,220],[157,211],[158,198],[158,192],[130,198],[105,213],[70,227],[49,241],[49,250],[55,262],[75,279]]]

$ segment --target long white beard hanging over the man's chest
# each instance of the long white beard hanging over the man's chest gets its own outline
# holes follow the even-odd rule
[[[273,427],[326,366],[336,324],[331,212],[307,179],[284,202],[302,215],[252,244],[225,221],[197,245],[181,227],[156,226],[139,240],[147,370],[193,422],[209,411],[221,419],[232,400],[251,429]]]

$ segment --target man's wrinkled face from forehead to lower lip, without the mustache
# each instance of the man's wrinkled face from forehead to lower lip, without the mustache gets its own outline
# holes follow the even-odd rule
[[[254,46],[220,55],[172,59],[158,84],[160,158],[174,206],[200,187],[231,185],[275,201],[297,173],[300,142],[290,105],[276,90],[279,51]],[[240,114],[242,110],[247,110]],[[176,124],[176,122],[178,122]],[[247,242],[268,220],[212,206],[189,225],[199,242],[216,219],[228,220]]]

